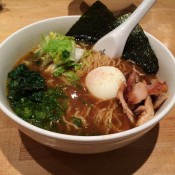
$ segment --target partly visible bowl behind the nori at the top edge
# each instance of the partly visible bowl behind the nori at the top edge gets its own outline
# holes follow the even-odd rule
[[[86,4],[91,6],[96,0],[84,0]],[[132,0],[100,0],[105,4],[109,10],[117,12],[129,7],[132,4]]]

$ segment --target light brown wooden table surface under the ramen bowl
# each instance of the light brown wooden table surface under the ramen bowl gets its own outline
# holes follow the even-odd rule
[[[130,9],[140,2],[133,1]],[[82,14],[87,9],[81,0],[2,0],[2,3],[0,43],[30,23]],[[140,24],[175,55],[175,0],[157,0]],[[174,175],[175,107],[136,142],[94,155],[69,154],[47,148],[21,133],[0,111],[0,175],[20,174]]]

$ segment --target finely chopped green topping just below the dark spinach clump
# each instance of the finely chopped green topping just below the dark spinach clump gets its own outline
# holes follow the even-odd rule
[[[42,96],[39,94],[40,99],[37,99],[38,101],[32,95],[33,93],[16,101],[11,100],[12,109],[25,121],[35,126],[52,130],[52,122],[62,120],[62,115],[66,111],[66,96],[57,89],[46,90],[42,93]]]

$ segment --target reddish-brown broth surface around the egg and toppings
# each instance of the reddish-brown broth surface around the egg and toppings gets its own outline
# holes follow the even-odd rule
[[[88,93],[85,86],[86,75],[80,78],[81,86],[65,85],[61,78],[53,76],[51,73],[46,72],[43,67],[38,66],[32,53],[28,53],[21,58],[17,65],[22,62],[30,63],[28,65],[29,69],[38,71],[46,80],[48,88],[55,88],[64,84],[63,90],[69,98],[69,106],[66,114],[63,116],[63,120],[58,122],[58,132],[71,135],[102,135],[121,132],[134,127],[126,114],[123,113],[122,106],[117,99],[100,101]],[[121,65],[125,65],[125,68],[122,68],[122,66],[118,68],[125,75],[128,71],[130,72],[132,70],[132,63],[123,59],[121,59],[121,63]],[[137,66],[135,66],[135,68],[139,70],[139,72],[143,72]],[[148,81],[154,78],[154,76],[150,75],[145,75],[145,77]],[[110,113],[112,106],[114,107],[112,110],[112,118],[111,120],[107,120],[105,116]],[[101,115],[99,115],[99,113]],[[73,123],[73,117],[81,119],[81,127],[70,124]]]

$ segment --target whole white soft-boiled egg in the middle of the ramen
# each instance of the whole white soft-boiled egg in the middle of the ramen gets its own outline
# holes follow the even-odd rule
[[[102,66],[90,71],[85,84],[88,91],[103,100],[115,98],[120,85],[125,82],[125,76],[116,67]]]

